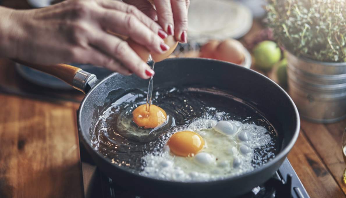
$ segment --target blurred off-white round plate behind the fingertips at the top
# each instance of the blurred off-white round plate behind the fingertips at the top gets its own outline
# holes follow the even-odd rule
[[[190,0],[188,18],[188,39],[197,43],[240,38],[253,22],[251,10],[231,0]]]

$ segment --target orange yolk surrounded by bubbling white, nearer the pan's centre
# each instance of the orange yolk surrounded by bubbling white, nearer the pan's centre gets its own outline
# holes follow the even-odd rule
[[[167,145],[174,154],[188,157],[192,154],[196,154],[203,148],[204,140],[195,132],[180,131],[171,136]]]

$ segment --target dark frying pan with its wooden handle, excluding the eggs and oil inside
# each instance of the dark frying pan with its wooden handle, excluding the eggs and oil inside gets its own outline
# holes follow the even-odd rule
[[[23,64],[23,63],[22,63]],[[113,73],[99,81],[94,75],[67,65],[26,65],[53,74],[86,93],[78,110],[80,142],[99,169],[113,182],[146,197],[237,197],[270,179],[298,138],[300,119],[289,95],[271,79],[228,62],[202,58],[171,58],[155,65],[155,87],[206,87],[228,92],[261,113],[276,129],[278,153],[260,168],[240,176],[209,182],[163,181],[140,176],[111,163],[94,150],[91,132],[105,106],[115,100],[118,88],[146,90],[148,81],[135,75]],[[62,68],[60,68],[62,67]],[[53,72],[51,71],[53,70]],[[61,74],[61,72],[63,72]]]

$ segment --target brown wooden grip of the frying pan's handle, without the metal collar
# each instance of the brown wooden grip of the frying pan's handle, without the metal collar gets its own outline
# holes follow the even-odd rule
[[[66,65],[66,64],[43,65],[43,64],[36,64],[36,63],[28,63],[28,62],[24,62],[17,59],[13,61],[22,65],[28,66],[30,68],[37,69],[41,72],[50,74],[52,76],[55,76],[71,86],[73,86],[72,82],[73,82],[73,77],[75,76],[75,74],[79,72],[80,70],[82,70],[81,68],[74,67],[72,65]]]

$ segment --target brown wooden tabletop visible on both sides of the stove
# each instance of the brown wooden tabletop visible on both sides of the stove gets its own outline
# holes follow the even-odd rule
[[[27,7],[20,0],[3,3]],[[76,126],[82,98],[78,91],[31,84],[10,60],[0,59],[0,198],[83,197]],[[345,127],[346,119],[333,124],[301,120],[288,158],[312,198],[345,197]]]

